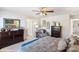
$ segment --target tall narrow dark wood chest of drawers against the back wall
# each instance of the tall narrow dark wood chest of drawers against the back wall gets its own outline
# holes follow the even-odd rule
[[[51,36],[52,37],[61,37],[61,26],[51,26]]]

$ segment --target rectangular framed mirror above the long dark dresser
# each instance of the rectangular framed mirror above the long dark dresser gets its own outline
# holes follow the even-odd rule
[[[4,27],[5,28],[19,28],[20,20],[19,19],[8,19],[4,18]]]

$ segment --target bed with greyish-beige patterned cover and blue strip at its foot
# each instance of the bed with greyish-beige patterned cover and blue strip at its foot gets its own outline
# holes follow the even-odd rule
[[[31,38],[24,41],[18,52],[57,52],[58,42],[61,38],[46,36],[40,39]]]

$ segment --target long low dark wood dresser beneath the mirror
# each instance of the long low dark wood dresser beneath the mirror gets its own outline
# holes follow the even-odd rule
[[[0,49],[24,41],[24,30],[0,32]]]

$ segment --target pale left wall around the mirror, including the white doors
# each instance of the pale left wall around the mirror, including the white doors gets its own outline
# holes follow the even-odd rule
[[[3,27],[3,18],[20,19],[21,27],[25,29],[24,38],[26,39],[27,34],[33,36],[35,34],[34,23],[38,23],[36,18],[27,17],[25,15],[13,13],[12,11],[0,11],[0,28]]]

